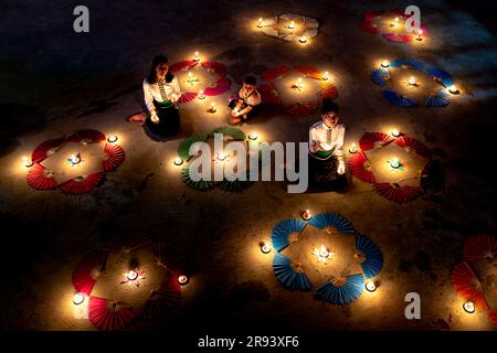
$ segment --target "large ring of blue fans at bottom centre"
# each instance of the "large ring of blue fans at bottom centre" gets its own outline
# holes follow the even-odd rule
[[[306,275],[310,268],[305,268],[282,254],[282,250],[288,247],[298,246],[299,237],[308,227],[321,231],[334,228],[342,236],[355,237],[353,257],[358,260],[362,272],[329,276],[322,284],[315,287],[317,284],[311,284]],[[320,298],[332,304],[348,304],[358,299],[364,290],[364,279],[376,277],[383,268],[383,255],[378,245],[369,237],[356,233],[352,224],[337,213],[320,213],[308,222],[282,221],[274,227],[271,238],[277,252],[273,259],[276,278],[290,289],[315,290]]]

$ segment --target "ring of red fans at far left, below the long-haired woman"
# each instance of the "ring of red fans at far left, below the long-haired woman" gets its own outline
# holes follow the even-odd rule
[[[106,172],[114,171],[125,159],[124,149],[116,143],[105,143],[102,151],[99,169],[77,175],[70,180],[60,180],[62,175],[44,165],[44,161],[54,156],[67,143],[82,146],[102,143],[106,137],[98,130],[80,130],[70,138],[47,140],[38,146],[31,154],[33,165],[30,168],[27,180],[28,184],[35,190],[60,189],[67,194],[82,194],[95,189],[101,183]],[[77,158],[84,161],[81,156]],[[68,160],[71,163],[71,160]]]

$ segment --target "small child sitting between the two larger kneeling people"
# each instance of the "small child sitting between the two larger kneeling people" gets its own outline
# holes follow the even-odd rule
[[[235,125],[254,117],[260,104],[261,94],[257,92],[257,79],[254,76],[246,76],[239,96],[230,100],[229,107],[232,117],[230,124]]]

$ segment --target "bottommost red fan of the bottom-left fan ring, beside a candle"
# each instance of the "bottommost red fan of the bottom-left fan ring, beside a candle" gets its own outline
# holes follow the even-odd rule
[[[89,297],[88,319],[99,330],[120,330],[136,318],[136,312],[117,301]]]

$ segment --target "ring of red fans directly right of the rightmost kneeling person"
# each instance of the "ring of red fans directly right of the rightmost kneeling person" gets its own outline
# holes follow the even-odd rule
[[[349,158],[349,170],[356,178],[364,182],[372,183],[377,193],[382,195],[383,197],[395,202],[409,202],[416,199],[421,194],[421,186],[413,186],[402,182],[377,182],[374,168],[368,159],[368,151],[378,150],[391,143],[394,143],[399,148],[404,149],[411,156],[417,154],[422,158],[431,158],[431,151],[427,149],[427,147],[423,142],[414,138],[408,136],[400,136],[398,138],[394,138],[391,135],[384,132],[366,132],[359,140],[360,150]],[[393,167],[391,164],[392,161],[388,162],[390,163],[391,170],[393,171]],[[398,169],[402,170],[403,162],[398,162]]]

